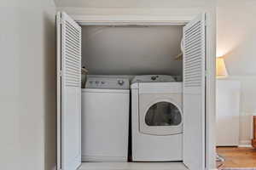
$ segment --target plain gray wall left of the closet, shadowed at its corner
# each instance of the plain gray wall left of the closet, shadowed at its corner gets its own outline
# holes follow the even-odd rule
[[[55,169],[55,3],[3,0],[0,169]]]

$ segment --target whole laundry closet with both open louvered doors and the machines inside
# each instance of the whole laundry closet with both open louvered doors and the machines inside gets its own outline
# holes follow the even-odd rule
[[[58,166],[204,169],[205,14],[182,25],[58,17]]]

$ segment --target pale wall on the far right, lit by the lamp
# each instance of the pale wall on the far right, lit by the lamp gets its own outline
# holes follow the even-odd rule
[[[255,8],[254,0],[218,0],[217,6],[217,55],[224,56],[228,79],[241,82],[241,145],[251,143],[252,116],[256,115]]]

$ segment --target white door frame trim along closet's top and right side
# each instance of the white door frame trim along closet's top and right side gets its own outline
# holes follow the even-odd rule
[[[140,8],[137,9],[126,9],[127,14],[113,14],[113,10],[120,10],[116,8],[103,8],[95,9],[90,8],[90,11],[86,12],[86,8],[60,8],[61,10],[67,10],[71,14],[71,17],[79,23],[81,26],[131,26],[131,25],[148,25],[148,26],[177,26],[185,25],[189,20],[195,18],[196,15],[201,13],[206,13],[207,15],[207,54],[206,54],[206,65],[207,65],[207,75],[206,75],[206,169],[215,169],[215,58],[216,58],[216,11],[215,8],[207,8],[207,11],[201,8],[196,8],[191,10],[187,9],[177,9],[167,11],[168,8],[162,9],[149,9],[144,11],[145,14],[138,14]],[[102,10],[105,10],[101,14]],[[136,13],[132,13],[133,10]],[[150,13],[151,10],[153,14]],[[156,11],[155,11],[156,10]],[[162,10],[164,14],[156,14]],[[118,11],[118,12],[120,12]],[[200,11],[200,12],[199,12]],[[116,12],[116,11],[115,11]],[[87,14],[86,14],[87,13]],[[90,14],[91,13],[91,14]],[[98,14],[97,14],[98,13]],[[111,14],[112,13],[112,14]],[[124,12],[123,12],[124,13]],[[161,12],[160,12],[161,13]]]

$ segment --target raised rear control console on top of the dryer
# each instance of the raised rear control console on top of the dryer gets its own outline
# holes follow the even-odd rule
[[[168,75],[142,75],[134,77],[133,82],[176,82],[174,77]]]

